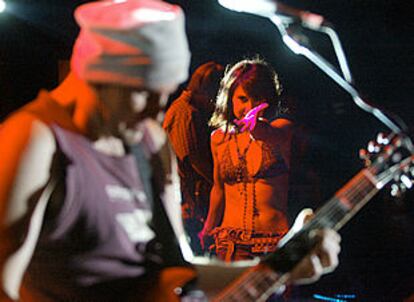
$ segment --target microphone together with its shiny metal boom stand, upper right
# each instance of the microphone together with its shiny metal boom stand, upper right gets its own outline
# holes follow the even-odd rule
[[[365,101],[353,84],[352,75],[348,67],[345,53],[340,39],[333,26],[323,16],[308,11],[289,7],[272,0],[218,0],[220,5],[236,12],[244,12],[269,19],[278,29],[283,42],[297,55],[303,55],[319,69],[333,79],[339,86],[348,92],[355,104],[366,112],[371,113],[392,132],[398,134],[406,132],[405,123],[395,115],[391,119],[383,111]],[[309,39],[304,37],[302,30],[312,30],[326,34],[334,48],[340,71],[309,45]],[[411,144],[411,150],[414,150]]]

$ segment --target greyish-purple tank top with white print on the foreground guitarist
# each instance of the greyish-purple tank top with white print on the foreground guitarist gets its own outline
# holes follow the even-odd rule
[[[42,301],[123,301],[146,272],[150,204],[132,155],[113,157],[51,126],[68,163],[66,196],[47,221],[24,279]]]

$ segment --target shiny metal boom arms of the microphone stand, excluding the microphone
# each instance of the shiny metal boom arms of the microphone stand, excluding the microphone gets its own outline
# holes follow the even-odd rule
[[[395,122],[393,122],[384,112],[364,101],[357,89],[353,86],[353,79],[351,76],[351,72],[348,68],[345,54],[343,52],[339,38],[332,28],[327,26],[307,26],[311,30],[320,31],[322,33],[327,34],[330,37],[343,76],[325,58],[319,55],[316,51],[311,50],[309,47],[306,47],[303,44],[301,44],[297,39],[293,37],[293,35],[290,34],[290,32],[292,31],[292,28],[290,28],[292,22],[286,21],[285,18],[279,17],[274,14],[267,15],[266,17],[274,25],[276,25],[277,29],[279,30],[282,36],[283,42],[286,44],[288,48],[290,48],[295,54],[303,55],[304,57],[308,58],[319,69],[321,69],[325,74],[327,74],[331,79],[333,79],[337,84],[339,84],[339,86],[341,86],[346,92],[348,92],[351,95],[352,99],[358,107],[374,115],[378,120],[380,120],[389,129],[391,129],[392,132],[396,134],[403,132],[401,127],[398,126]]]

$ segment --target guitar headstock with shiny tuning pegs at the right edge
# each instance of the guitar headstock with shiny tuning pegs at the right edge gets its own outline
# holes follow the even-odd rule
[[[365,166],[374,170],[378,188],[387,183],[391,195],[398,197],[414,185],[414,148],[408,136],[379,133],[367,149],[361,149],[359,157]]]

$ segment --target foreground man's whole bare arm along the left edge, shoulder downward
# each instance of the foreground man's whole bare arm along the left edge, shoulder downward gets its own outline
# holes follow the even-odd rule
[[[2,126],[0,146],[1,292],[18,299],[21,278],[37,240],[26,238],[31,211],[36,206],[29,200],[50,178],[56,143],[45,124],[29,114],[20,113]],[[31,244],[19,250],[25,241]]]

